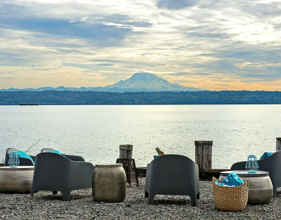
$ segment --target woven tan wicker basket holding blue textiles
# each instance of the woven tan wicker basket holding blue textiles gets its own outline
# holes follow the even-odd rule
[[[223,211],[242,211],[248,202],[249,180],[241,186],[218,186],[215,181],[223,181],[213,177],[213,198],[215,207]]]

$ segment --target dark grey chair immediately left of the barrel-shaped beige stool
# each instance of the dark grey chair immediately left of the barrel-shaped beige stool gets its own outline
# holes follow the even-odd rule
[[[30,198],[34,191],[58,191],[63,200],[70,200],[70,192],[92,187],[93,165],[83,161],[73,161],[58,153],[39,153],[36,156]]]

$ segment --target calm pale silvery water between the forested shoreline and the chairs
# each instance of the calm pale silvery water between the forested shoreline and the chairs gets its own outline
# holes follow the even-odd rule
[[[275,151],[281,105],[0,106],[0,160],[7,148],[36,155],[44,147],[115,163],[119,144],[133,144],[136,166],[156,155],[195,160],[195,140],[212,140],[213,168],[230,168],[249,154]]]

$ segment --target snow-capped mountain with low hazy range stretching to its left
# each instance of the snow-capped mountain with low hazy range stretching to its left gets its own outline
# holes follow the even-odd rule
[[[8,88],[4,91],[44,91],[44,90],[56,90],[56,91],[98,91],[98,92],[161,92],[161,91],[171,91],[171,92],[180,92],[180,91],[199,91],[204,89],[187,87],[183,85],[178,85],[177,83],[169,83],[164,80],[164,78],[160,78],[155,74],[148,73],[136,73],[133,74],[130,78],[119,81],[118,83],[112,85],[106,85],[105,87],[81,87],[81,88],[73,88],[73,87],[63,87],[60,86],[58,88],[53,87],[42,87],[42,88]]]

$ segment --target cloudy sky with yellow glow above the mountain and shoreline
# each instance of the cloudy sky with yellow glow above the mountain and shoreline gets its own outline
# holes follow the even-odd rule
[[[149,72],[281,90],[281,0],[1,0],[0,89],[96,87]]]

